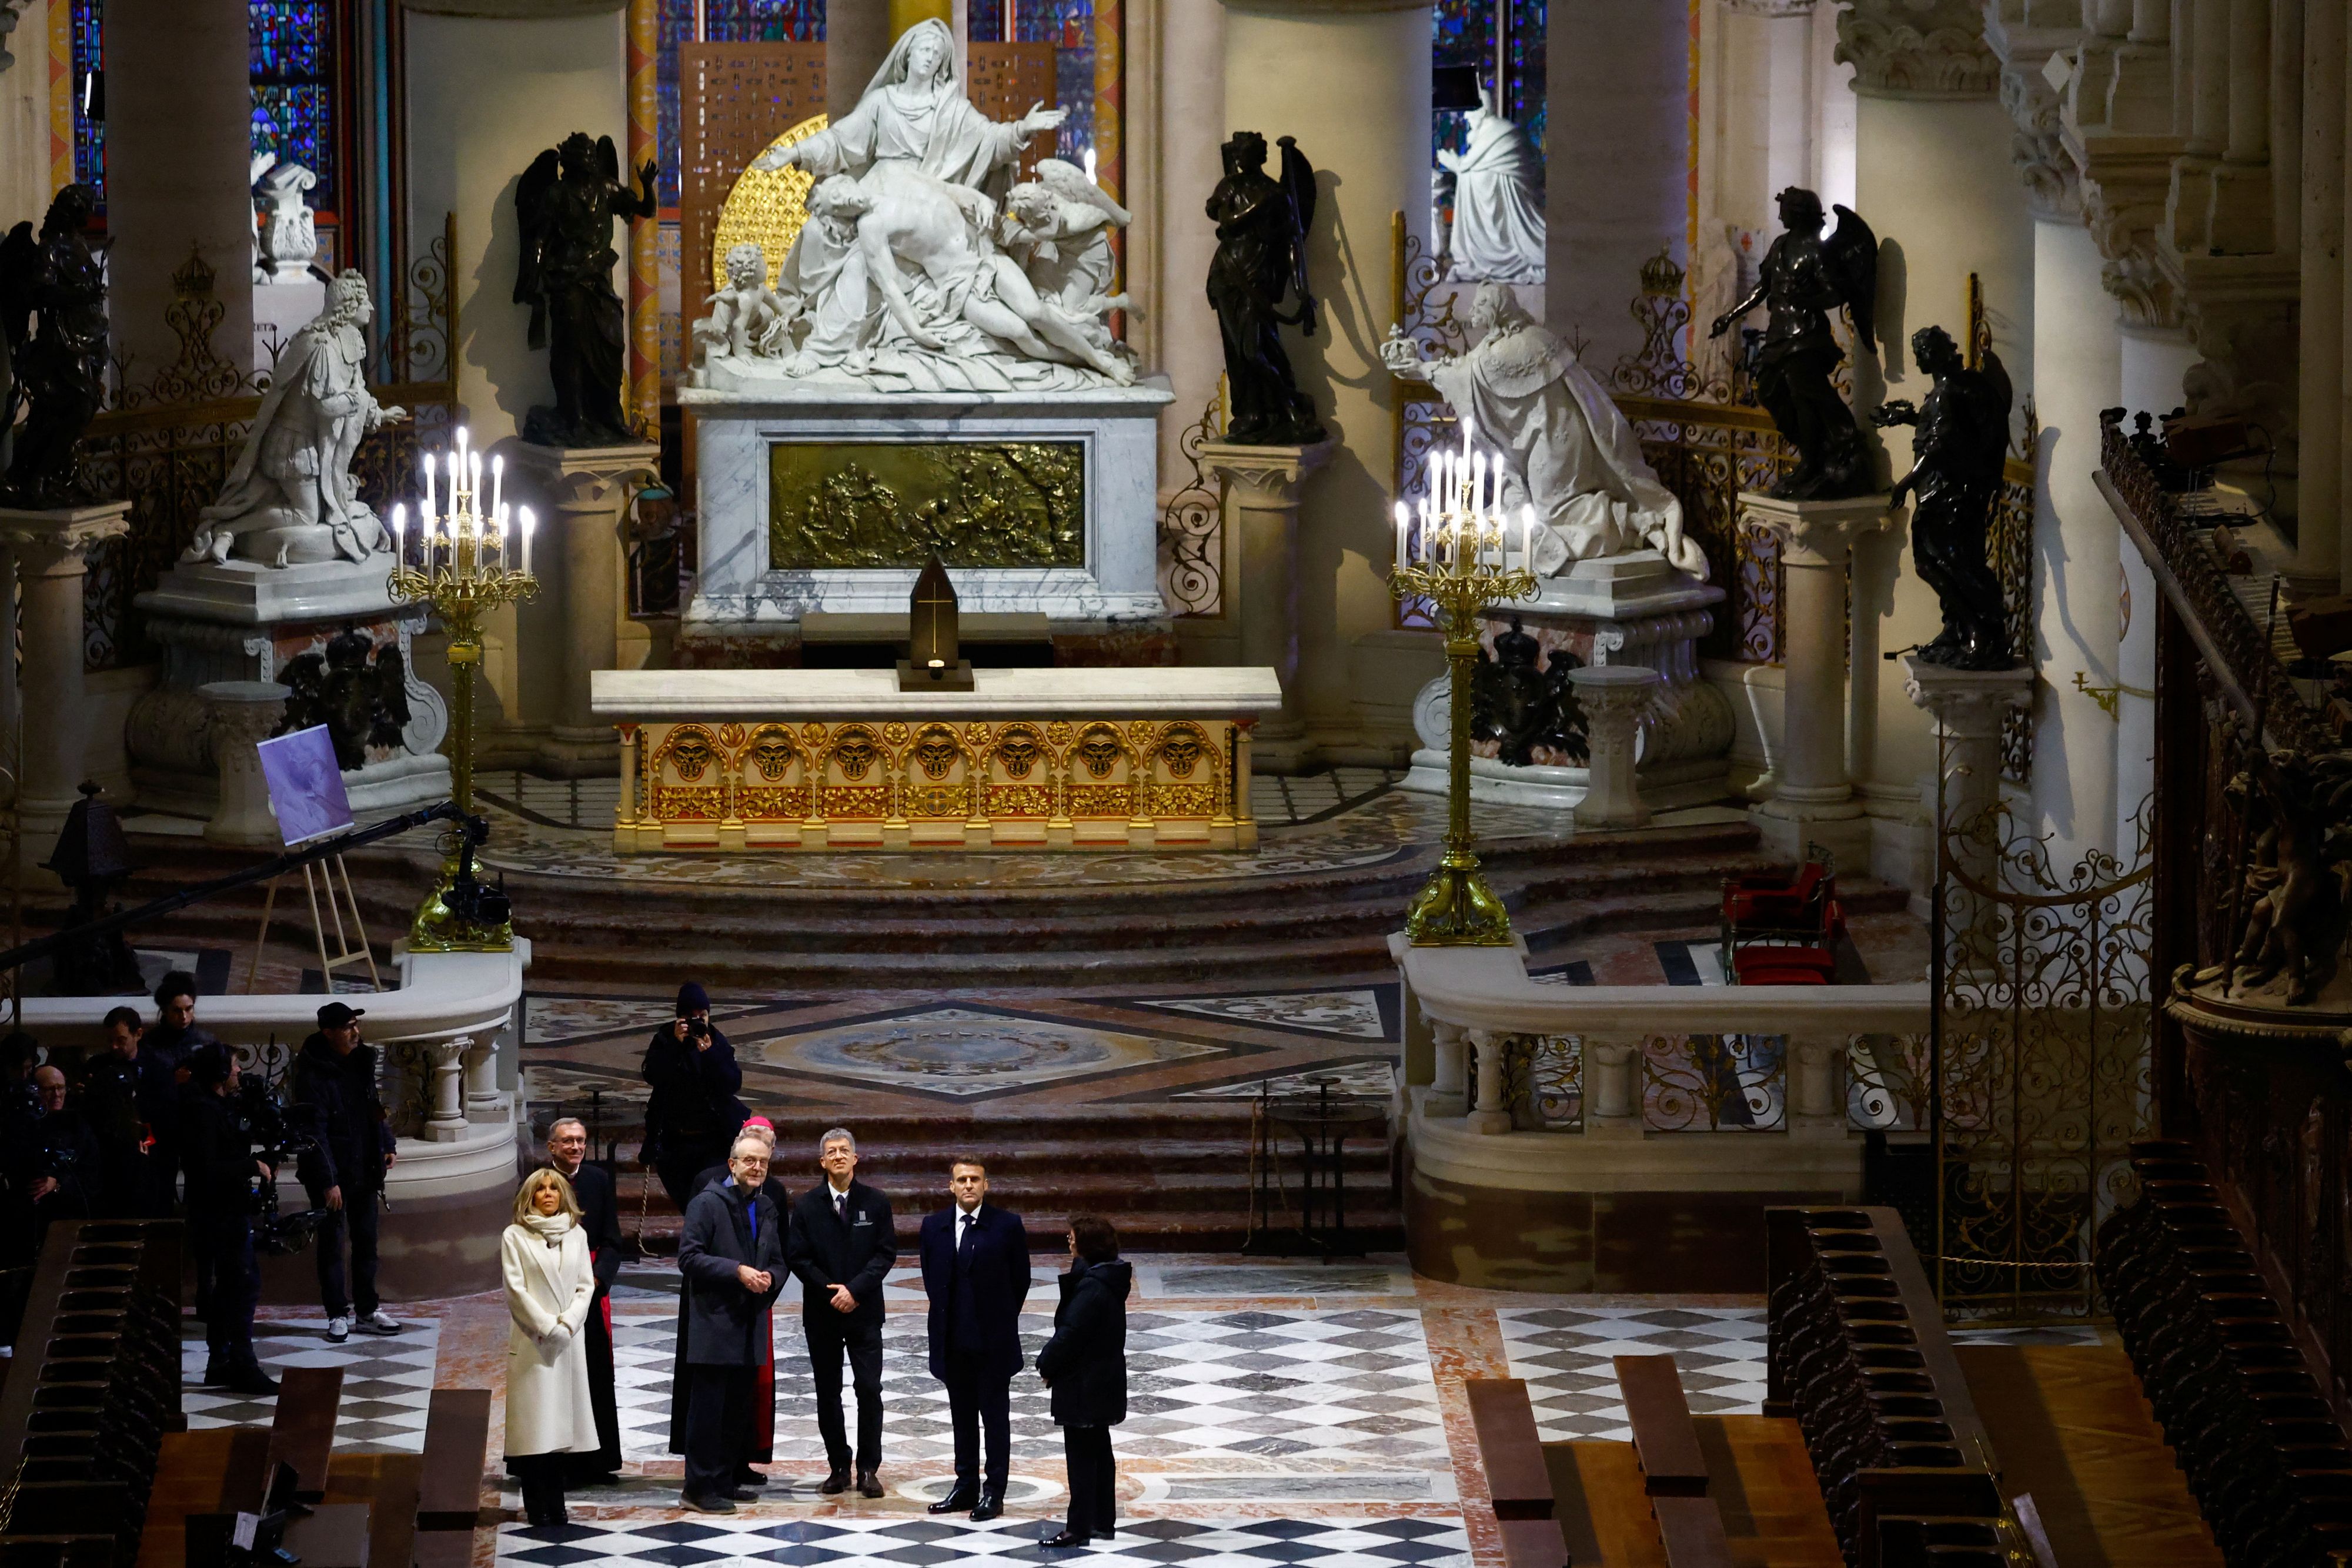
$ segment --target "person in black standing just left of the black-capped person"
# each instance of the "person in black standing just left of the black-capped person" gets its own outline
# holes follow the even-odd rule
[[[261,1272],[254,1265],[254,1180],[278,1171],[254,1157],[254,1126],[238,1095],[238,1056],[223,1044],[188,1058],[181,1103],[181,1168],[188,1175],[188,1232],[212,1258],[212,1302],[205,1316],[205,1382],[235,1394],[268,1396],[278,1382],[254,1356],[254,1305]]]

